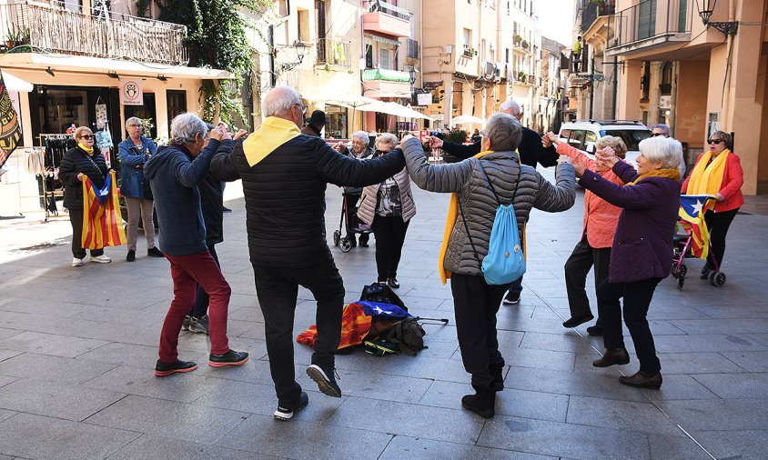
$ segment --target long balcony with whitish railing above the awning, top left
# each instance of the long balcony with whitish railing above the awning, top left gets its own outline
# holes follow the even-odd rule
[[[185,35],[184,25],[111,12],[107,20],[69,11],[60,2],[0,5],[0,43],[8,52],[186,65]]]

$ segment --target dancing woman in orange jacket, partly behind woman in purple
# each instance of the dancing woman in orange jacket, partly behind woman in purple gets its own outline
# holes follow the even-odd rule
[[[560,142],[560,139],[552,133],[543,137],[545,146],[553,144],[557,146],[557,153],[570,156],[579,160],[581,165],[597,172],[614,184],[624,185],[621,179],[613,174],[610,165],[601,165],[580,150]],[[601,137],[595,145],[598,152],[606,147],[611,147],[616,156],[621,159],[627,153],[627,146],[620,137],[606,135]],[[573,248],[571,256],[565,262],[565,288],[568,293],[568,305],[571,308],[571,318],[565,321],[563,327],[576,327],[591,321],[594,316],[590,309],[590,299],[585,290],[587,275],[594,265],[595,288],[608,277],[608,265],[611,262],[611,245],[613,245],[613,233],[619,223],[621,208],[611,205],[600,196],[591,191],[584,192],[584,225],[581,230],[581,240]],[[602,335],[602,325],[598,317],[595,325],[588,327],[590,335]]]

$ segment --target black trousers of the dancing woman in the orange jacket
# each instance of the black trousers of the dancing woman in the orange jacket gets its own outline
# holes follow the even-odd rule
[[[568,305],[571,316],[591,315],[590,299],[585,289],[587,275],[594,266],[595,289],[608,277],[608,265],[611,264],[611,248],[594,248],[587,241],[587,235],[573,248],[571,256],[565,262],[565,290],[568,293]],[[598,324],[602,324],[600,316]]]

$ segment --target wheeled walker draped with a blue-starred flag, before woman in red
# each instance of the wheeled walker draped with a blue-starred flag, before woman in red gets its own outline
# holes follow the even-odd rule
[[[695,197],[694,197],[695,196]],[[698,197],[698,198],[696,198]],[[696,257],[692,252],[694,232],[698,231],[698,222],[703,221],[703,212],[709,200],[714,199],[711,195],[681,195],[681,217],[678,221],[685,222],[688,227],[685,234],[677,234],[673,237],[674,245],[672,247],[672,276],[677,279],[677,288],[682,289],[685,284],[685,275],[688,273],[688,267],[683,262],[688,257]],[[703,201],[703,203],[702,203]],[[695,203],[696,205],[691,205]],[[690,218],[683,218],[687,215]],[[712,246],[707,241],[708,252],[712,252]],[[725,284],[725,274],[720,271],[720,263],[712,257],[712,271],[709,280],[712,285],[720,287]],[[703,272],[702,272],[703,273]]]

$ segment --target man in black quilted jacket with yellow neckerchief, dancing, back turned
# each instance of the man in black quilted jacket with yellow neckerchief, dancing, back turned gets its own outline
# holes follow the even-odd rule
[[[325,237],[328,183],[378,184],[405,167],[401,151],[359,161],[298,128],[305,107],[298,92],[278,86],[264,99],[267,118],[229,155],[216,155],[217,179],[242,179],[248,248],[264,315],[269,368],[278,394],[275,418],[288,420],[308,404],[294,375],[293,321],[298,286],[317,300],[315,352],[307,374],[326,395],[341,396],[334,377],[344,285]]]

